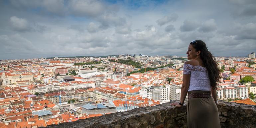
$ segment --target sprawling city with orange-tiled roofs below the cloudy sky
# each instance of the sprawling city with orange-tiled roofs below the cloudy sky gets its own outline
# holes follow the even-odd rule
[[[217,99],[256,105],[255,52],[216,60]],[[0,118],[8,127],[39,127],[179,100],[186,61],[142,54],[1,60]]]

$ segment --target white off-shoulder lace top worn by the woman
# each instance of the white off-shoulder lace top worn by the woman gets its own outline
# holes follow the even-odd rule
[[[211,90],[210,80],[206,67],[200,65],[194,66],[184,64],[183,74],[190,74],[190,86],[188,91],[192,90]]]

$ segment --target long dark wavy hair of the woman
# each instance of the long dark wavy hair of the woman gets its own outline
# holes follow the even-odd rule
[[[208,51],[206,44],[201,40],[193,41],[190,43],[190,45],[192,45],[196,51],[200,51],[200,58],[207,69],[210,84],[213,89],[217,89],[221,76],[219,64],[215,57],[212,56],[212,54]]]

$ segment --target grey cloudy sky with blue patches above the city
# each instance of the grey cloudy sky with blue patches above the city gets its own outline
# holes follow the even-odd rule
[[[256,0],[1,0],[0,59],[256,52]]]

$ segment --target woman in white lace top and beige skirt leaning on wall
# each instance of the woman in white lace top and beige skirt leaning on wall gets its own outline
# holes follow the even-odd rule
[[[218,63],[205,43],[196,40],[188,48],[184,64],[181,100],[171,105],[181,107],[188,95],[188,128],[220,128],[217,108]]]

